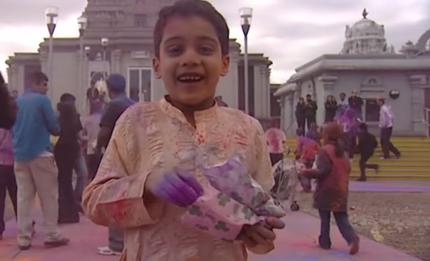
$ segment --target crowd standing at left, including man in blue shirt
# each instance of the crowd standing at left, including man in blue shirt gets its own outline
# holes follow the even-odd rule
[[[8,191],[20,250],[31,247],[35,233],[32,207],[36,193],[44,217],[45,245],[68,244],[58,224],[79,222],[84,187],[96,175],[116,120],[133,103],[125,95],[125,78],[112,74],[106,81],[109,103],[92,96],[88,99],[90,114],[81,117],[76,97],[64,93],[55,112],[46,96],[48,80],[42,72],[32,73],[30,86],[19,97],[8,92],[2,77],[0,82],[0,216],[4,216]],[[0,239],[4,229],[1,218]],[[100,247],[99,252],[111,255],[121,253],[122,248],[121,231],[109,230],[109,246]]]

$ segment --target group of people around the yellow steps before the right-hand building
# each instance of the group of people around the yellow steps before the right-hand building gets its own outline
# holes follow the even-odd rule
[[[394,123],[394,115],[391,107],[385,103],[384,98],[377,98],[377,104],[380,107],[380,145],[383,152],[381,159],[390,159],[390,152],[396,158],[400,158],[400,151],[391,142]],[[366,168],[378,171],[379,166],[377,164],[367,164],[367,161],[374,154],[378,142],[375,136],[368,131],[368,126],[363,121],[363,99],[358,95],[356,90],[353,90],[351,96],[348,98],[342,92],[339,94],[339,102],[337,102],[333,95],[328,95],[324,107],[324,124],[337,122],[342,126],[343,142],[351,162],[355,154],[360,155],[360,177],[358,180],[366,181]],[[299,133],[297,135],[299,139],[298,144],[307,144],[308,142],[304,137],[315,137],[315,133],[321,132],[321,128],[316,127],[317,110],[318,107],[315,101],[312,100],[311,95],[308,94],[306,96],[306,101],[303,97],[299,98],[295,109]],[[307,128],[305,128],[305,123],[307,124]],[[319,139],[314,140],[318,143]],[[301,148],[302,145],[298,147]]]

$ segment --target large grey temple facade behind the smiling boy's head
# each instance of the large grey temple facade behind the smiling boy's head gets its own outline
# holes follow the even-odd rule
[[[7,64],[9,86],[24,91],[28,75],[42,70],[50,76],[48,95],[54,103],[65,93],[77,97],[81,113],[86,112],[86,92],[109,73],[127,78],[127,93],[136,101],[158,100],[165,95],[152,70],[153,28],[158,12],[173,0],[88,0],[83,11],[88,26],[80,38],[54,38],[49,57],[49,39],[37,53],[15,53]],[[101,45],[107,38],[108,44]],[[221,78],[217,95],[228,106],[245,108],[243,55],[240,45],[230,40],[231,66]],[[52,70],[49,70],[52,59]],[[270,118],[270,65],[263,54],[249,55],[249,108],[259,119]]]

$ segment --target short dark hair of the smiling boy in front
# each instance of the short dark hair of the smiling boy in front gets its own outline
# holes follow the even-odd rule
[[[229,53],[229,34],[225,18],[207,1],[203,0],[179,0],[171,6],[160,10],[158,20],[154,28],[154,51],[155,56],[160,57],[160,45],[164,34],[164,28],[168,20],[174,16],[199,16],[208,21],[215,28],[221,45],[222,55]]]

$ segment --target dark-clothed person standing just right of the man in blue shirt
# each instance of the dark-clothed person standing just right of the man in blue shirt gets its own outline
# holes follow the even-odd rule
[[[75,107],[75,97],[65,93],[57,105],[60,122],[60,137],[55,144],[54,155],[58,166],[58,223],[78,223],[79,205],[75,200],[72,177],[73,168],[79,159],[78,141],[82,125]]]

